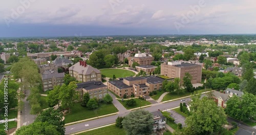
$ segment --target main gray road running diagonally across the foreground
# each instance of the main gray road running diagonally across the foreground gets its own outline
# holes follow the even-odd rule
[[[190,98],[185,98],[185,99],[187,100],[187,99],[190,99]],[[180,102],[181,102],[180,100],[176,100],[176,101],[167,102],[167,103],[157,103],[157,104],[153,104],[152,106],[146,107],[146,108],[143,108],[143,109],[148,110],[150,112],[157,111],[158,109],[165,110],[165,109],[174,108],[174,107],[179,106]],[[182,102],[185,102],[185,101],[182,101]],[[99,118],[99,119],[95,119],[95,120],[91,120],[91,121],[86,121],[86,122],[66,126],[66,134],[71,134],[71,133],[75,133],[75,132],[79,132],[79,131],[83,131],[83,130],[87,130],[87,129],[91,129],[91,128],[95,128],[95,127],[115,123],[116,118],[118,116],[123,117],[123,116],[129,114],[129,111],[123,111],[122,110],[122,111],[119,111],[119,112],[120,113],[117,114],[117,115],[104,117],[104,118]]]

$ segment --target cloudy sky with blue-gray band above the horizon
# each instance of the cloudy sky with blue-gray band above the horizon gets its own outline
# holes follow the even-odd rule
[[[255,0],[0,2],[0,37],[255,34]]]

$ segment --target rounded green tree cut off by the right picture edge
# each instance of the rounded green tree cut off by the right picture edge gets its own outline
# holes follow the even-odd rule
[[[245,93],[243,96],[232,96],[227,101],[226,113],[240,121],[248,120],[256,115],[256,96]]]

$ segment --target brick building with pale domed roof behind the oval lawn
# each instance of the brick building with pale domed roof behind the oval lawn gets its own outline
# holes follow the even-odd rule
[[[154,57],[150,57],[145,53],[135,54],[134,57],[128,57],[129,66],[132,67],[134,62],[137,62],[139,65],[150,65],[154,60]]]

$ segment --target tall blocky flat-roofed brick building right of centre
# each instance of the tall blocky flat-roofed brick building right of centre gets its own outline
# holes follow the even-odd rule
[[[161,75],[169,78],[180,78],[181,81],[189,73],[192,76],[191,83],[201,83],[202,66],[181,61],[165,62],[161,64]]]

